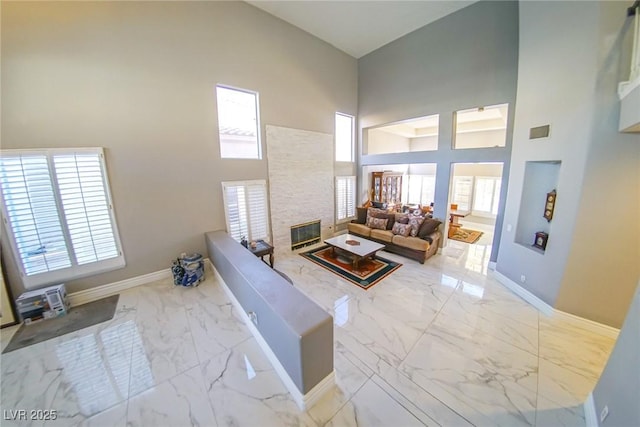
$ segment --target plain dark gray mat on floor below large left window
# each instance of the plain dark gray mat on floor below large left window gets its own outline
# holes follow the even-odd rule
[[[22,325],[2,353],[18,350],[82,328],[111,320],[116,312],[119,294],[71,307],[69,312],[54,319]]]

